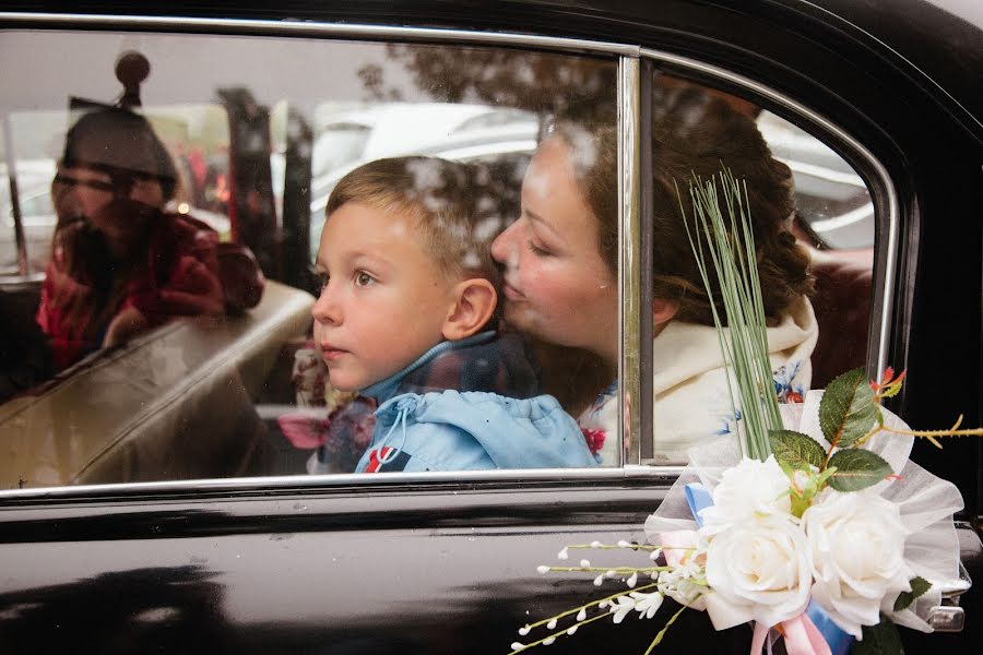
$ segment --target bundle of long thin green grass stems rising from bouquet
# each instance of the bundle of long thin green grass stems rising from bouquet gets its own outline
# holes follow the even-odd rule
[[[719,198],[718,183],[723,198]],[[678,188],[676,193],[679,193]],[[737,395],[727,377],[727,392],[735,417],[741,417],[737,439],[741,452],[766,460],[771,453],[768,431],[782,428],[774,393],[774,378],[768,359],[768,333],[765,306],[758,278],[755,237],[748,213],[747,187],[727,168],[719,176],[702,180],[694,175],[689,182],[692,200],[692,229],[682,196],[679,209],[686,234],[696,257],[720,342],[724,364],[733,371]],[[721,203],[722,200],[722,203]],[[724,218],[721,205],[727,217]],[[700,236],[704,237],[701,239]],[[703,247],[707,247],[707,253]],[[715,272],[727,327],[716,311],[710,285],[710,267]]]

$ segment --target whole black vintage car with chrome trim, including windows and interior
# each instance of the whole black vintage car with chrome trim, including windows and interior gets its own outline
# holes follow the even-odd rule
[[[617,465],[307,474],[311,451],[288,442],[277,418],[298,409],[292,374],[317,291],[312,181],[370,158],[374,138],[386,143],[379,156],[487,163],[508,195],[553,118],[615,127],[619,388],[644,398],[644,126],[662,91],[723,98],[795,175],[795,233],[817,281],[814,388],[855,366],[868,377],[892,366],[908,381],[888,407],[911,426],[959,415],[981,425],[976,5],[616,4],[4,5],[0,652],[508,653],[519,627],[593,588],[543,577],[538,564],[567,544],[643,540],[684,464],[653,460],[644,400],[621,416],[638,438],[625,437]],[[14,201],[36,184],[19,190],[15,171],[54,168],[69,98],[114,102],[114,63],[127,51],[150,64],[143,111],[181,172],[171,211],[248,246],[265,291],[252,309],[169,322],[52,377],[33,321],[49,253],[25,237]],[[447,106],[443,132],[414,129],[433,104]],[[390,111],[407,118],[374,135],[372,117]],[[315,175],[315,144],[335,141]],[[961,490],[962,560],[983,580],[979,440],[920,442],[912,458]],[[935,633],[902,631],[908,652],[975,653],[981,598],[979,584],[954,593]],[[602,621],[552,647],[641,653],[658,629]],[[750,639],[745,627],[715,633],[692,611],[660,647],[739,652]]]

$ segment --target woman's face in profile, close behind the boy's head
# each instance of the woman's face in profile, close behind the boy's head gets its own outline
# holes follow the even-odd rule
[[[522,181],[522,213],[492,243],[492,255],[505,264],[505,309],[512,325],[615,365],[618,285],[601,257],[597,227],[570,150],[554,135],[533,156]]]

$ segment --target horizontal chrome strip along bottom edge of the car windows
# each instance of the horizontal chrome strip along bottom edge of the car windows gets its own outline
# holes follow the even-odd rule
[[[39,487],[0,491],[3,501],[63,501],[75,498],[97,499],[153,493],[196,492],[261,492],[271,490],[330,490],[333,488],[362,490],[386,489],[407,485],[441,485],[449,489],[475,490],[474,483],[618,483],[626,479],[647,479],[653,486],[670,486],[683,473],[683,466],[625,466],[620,468],[525,468],[495,471],[440,471],[426,473],[392,472],[382,475],[347,473],[333,475],[282,475],[251,478],[213,478],[200,480],[162,480],[155,483],[119,483],[109,485],[78,485]],[[5,509],[14,505],[7,504]],[[0,505],[3,508],[3,505]]]

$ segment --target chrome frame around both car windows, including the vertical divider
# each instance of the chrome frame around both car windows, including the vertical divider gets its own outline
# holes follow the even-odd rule
[[[615,481],[618,479],[643,477],[653,485],[670,485],[682,473],[683,466],[650,466],[646,464],[641,444],[652,439],[651,420],[643,421],[650,413],[641,410],[647,406],[641,394],[642,389],[651,385],[642,383],[643,374],[651,377],[651,361],[641,359],[640,340],[651,334],[651,317],[642,311],[648,306],[643,294],[650,288],[641,277],[641,264],[648,261],[642,253],[641,245],[650,242],[644,212],[644,196],[640,194],[641,165],[650,158],[640,153],[639,136],[648,133],[643,119],[649,116],[649,108],[641,106],[641,99],[650,97],[651,76],[641,71],[648,70],[649,61],[671,63],[684,70],[691,70],[713,79],[720,79],[745,87],[755,94],[785,107],[801,116],[807,122],[822,126],[830,133],[837,134],[862,156],[876,171],[879,182],[887,192],[887,245],[886,275],[880,294],[884,303],[879,312],[879,324],[875,325],[876,361],[883,368],[887,357],[888,330],[890,327],[891,285],[897,267],[897,242],[899,230],[897,192],[884,166],[863,147],[860,142],[836,127],[834,123],[809,110],[797,102],[779,92],[755,82],[743,75],[732,73],[698,60],[680,57],[671,52],[642,48],[627,44],[593,41],[560,37],[544,37],[509,33],[482,33],[460,29],[435,29],[395,27],[383,25],[350,25],[316,22],[272,22],[261,20],[223,20],[223,19],[187,19],[157,16],[114,16],[82,15],[55,13],[0,12],[0,29],[24,28],[99,28],[118,31],[164,31],[228,35],[253,36],[292,36],[292,37],[328,37],[364,40],[400,40],[404,43],[445,43],[451,41],[471,46],[504,46],[537,48],[570,55],[607,55],[618,58],[618,224],[620,226],[618,241],[618,288],[621,297],[619,308],[619,427],[623,439],[628,439],[628,461],[620,467],[579,468],[579,469],[522,469],[522,471],[484,471],[484,472],[440,472],[427,474],[393,473],[387,476],[369,477],[356,474],[332,476],[269,476],[258,478],[225,478],[204,480],[167,480],[158,483],[126,483],[78,487],[45,487],[36,489],[0,490],[0,501],[16,499],[67,499],[110,495],[145,495],[164,491],[251,491],[271,488],[333,488],[352,486],[391,486],[406,484],[461,484],[473,481],[522,481],[522,480],[595,480]],[[641,195],[641,200],[640,200]],[[651,225],[651,222],[648,222]],[[875,302],[878,297],[875,296]],[[650,349],[648,349],[650,352]],[[638,401],[632,401],[638,398]],[[651,402],[649,401],[649,406]],[[626,413],[626,409],[629,409]],[[627,420],[626,420],[627,414]],[[636,438],[637,436],[637,438]],[[624,445],[624,441],[623,441]]]

